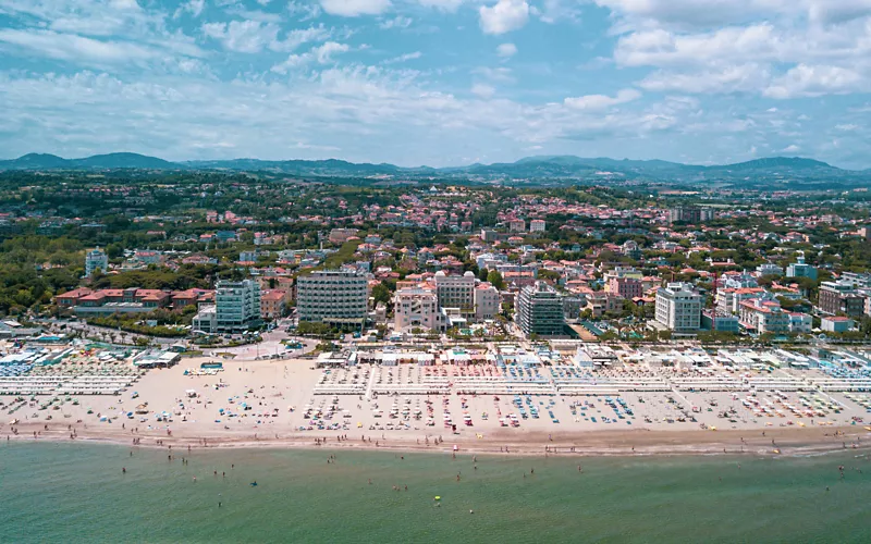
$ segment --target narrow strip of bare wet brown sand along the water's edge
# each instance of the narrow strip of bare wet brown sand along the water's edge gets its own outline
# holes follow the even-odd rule
[[[217,435],[160,435],[148,433],[95,432],[94,429],[75,428],[75,437],[70,431],[54,428],[46,431],[44,424],[27,423],[16,425],[17,434],[10,433],[7,425],[0,428],[8,436],[7,442],[48,442],[48,443],[86,443],[125,446],[130,448],[167,449],[184,453],[194,450],[238,450],[238,449],[330,449],[357,452],[393,452],[393,453],[432,453],[451,455],[500,455],[526,457],[647,457],[647,456],[753,456],[753,457],[801,457],[807,455],[824,455],[836,452],[855,452],[867,454],[871,450],[871,433],[863,428],[841,426],[819,429],[768,429],[761,436],[758,431],[723,430],[702,431],[585,431],[578,433],[561,433],[549,440],[547,433],[527,433],[523,436],[496,436],[488,438],[469,438],[466,436],[442,436],[436,444],[427,436],[394,436],[387,438],[368,436],[367,442],[360,435],[347,435],[347,440],[338,440],[336,435],[292,434],[278,437],[256,437],[249,433],[221,433]],[[34,432],[37,436],[34,437]],[[862,435],[868,436],[862,441]],[[139,438],[138,444],[132,444]],[[453,440],[451,440],[453,438]],[[500,440],[498,440],[500,438]],[[519,438],[519,440],[518,440]],[[369,442],[375,440],[375,442]],[[160,443],[158,443],[160,441]],[[205,441],[205,444],[204,444]],[[317,443],[316,441],[320,441]],[[326,441],[326,442],[323,442]],[[772,441],[774,445],[772,445]],[[378,445],[376,445],[378,444]],[[456,446],[456,450],[454,450]],[[545,450],[545,448],[548,448]]]

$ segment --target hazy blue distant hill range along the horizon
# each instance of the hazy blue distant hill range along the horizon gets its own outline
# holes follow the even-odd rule
[[[871,171],[843,170],[812,159],[772,157],[737,164],[692,165],[661,160],[584,159],[574,156],[527,157],[516,162],[470,164],[434,169],[402,168],[393,164],[353,163],[338,159],[263,161],[233,159],[219,161],[169,162],[138,153],[96,154],[63,159],[54,154],[29,153],[0,161],[0,170],[119,170],[151,171],[238,171],[303,177],[354,177],[377,181],[502,182],[512,185],[565,185],[618,181],[672,182],[684,184],[723,183],[733,186],[768,185],[787,188],[795,185],[842,186],[871,184]]]

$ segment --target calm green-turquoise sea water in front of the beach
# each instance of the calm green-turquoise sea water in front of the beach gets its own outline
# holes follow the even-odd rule
[[[871,542],[852,455],[404,457],[0,444],[0,542]]]

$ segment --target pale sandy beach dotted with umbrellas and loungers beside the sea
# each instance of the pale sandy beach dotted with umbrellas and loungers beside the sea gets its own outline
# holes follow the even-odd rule
[[[535,384],[544,378],[552,383],[561,372],[549,368],[525,371],[529,396],[463,393],[473,382],[504,378],[487,366],[316,369],[309,359],[224,360],[223,371],[185,375],[199,373],[209,360],[186,358],[174,368],[150,370],[120,395],[54,401],[2,396],[2,409],[11,413],[0,421],[0,436],[176,449],[456,448],[515,455],[805,455],[871,444],[867,423],[855,420],[866,415],[857,404],[866,394],[849,395],[858,400],[837,393],[818,396],[815,416],[798,418],[807,393],[536,394],[544,385]],[[768,413],[755,412],[747,399],[770,407]]]

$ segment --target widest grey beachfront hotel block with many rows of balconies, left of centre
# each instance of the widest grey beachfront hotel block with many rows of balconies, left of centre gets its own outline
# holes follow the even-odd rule
[[[351,271],[321,270],[296,279],[299,321],[363,323],[369,286],[365,275]]]

